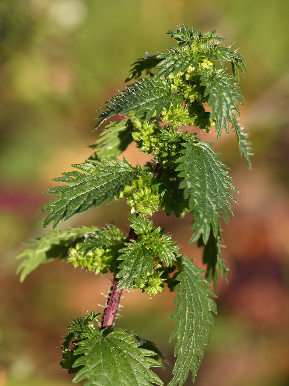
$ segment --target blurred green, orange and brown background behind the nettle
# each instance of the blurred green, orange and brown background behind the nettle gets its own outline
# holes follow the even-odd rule
[[[214,145],[240,194],[235,218],[223,224],[230,285],[218,284],[215,331],[195,385],[289,385],[288,14],[286,0],[0,1],[0,386],[70,384],[59,366],[61,339],[72,318],[101,310],[109,278],[55,261],[20,284],[15,256],[21,242],[49,232],[39,208],[50,198],[42,191],[91,154],[86,146],[101,132],[92,133],[96,109],[123,88],[135,58],[165,51],[173,42],[165,32],[183,23],[217,29],[226,45],[241,46],[248,69],[241,116],[255,153],[249,171],[233,133]],[[215,133],[202,139],[214,141]],[[133,164],[148,159],[133,146],[125,156]],[[126,230],[127,215],[119,201],[60,227],[115,220]],[[158,213],[153,221],[202,266],[202,251],[188,245],[189,215]],[[131,291],[116,322],[163,351],[165,384],[174,363],[173,298]]]

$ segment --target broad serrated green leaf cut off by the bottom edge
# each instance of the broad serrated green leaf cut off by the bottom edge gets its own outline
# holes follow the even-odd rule
[[[85,386],[151,386],[163,381],[150,367],[163,367],[152,359],[153,351],[138,347],[140,342],[125,330],[92,330],[81,334],[83,340],[75,355],[82,354],[74,367],[83,366],[72,379],[73,383],[87,379]]]

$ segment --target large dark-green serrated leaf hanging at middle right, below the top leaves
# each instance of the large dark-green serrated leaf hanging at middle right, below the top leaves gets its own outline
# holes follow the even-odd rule
[[[228,208],[233,213],[228,197],[237,201],[229,189],[235,192],[237,189],[232,184],[232,178],[225,171],[229,168],[211,149],[212,143],[191,140],[183,146],[185,149],[181,151],[183,155],[177,160],[180,164],[176,170],[180,171],[179,177],[183,178],[180,188],[185,188],[184,197],[189,199],[190,211],[194,215],[191,229],[195,230],[195,233],[190,244],[197,241],[200,235],[207,244],[211,224],[213,233],[217,237],[220,227],[218,216],[228,221]]]

